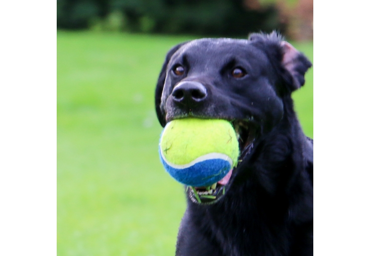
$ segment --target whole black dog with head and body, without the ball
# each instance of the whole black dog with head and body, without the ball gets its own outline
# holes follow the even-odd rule
[[[194,40],[169,51],[155,96],[161,125],[229,120],[241,152],[228,183],[212,192],[216,199],[198,203],[187,190],[177,256],[313,254],[313,140],[291,99],[310,66],[275,32]]]

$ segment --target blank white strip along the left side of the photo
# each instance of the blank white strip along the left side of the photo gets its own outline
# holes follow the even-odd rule
[[[0,2],[0,255],[56,255],[56,3]]]

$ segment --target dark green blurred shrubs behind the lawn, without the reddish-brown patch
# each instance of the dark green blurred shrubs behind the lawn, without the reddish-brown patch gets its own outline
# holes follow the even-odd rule
[[[246,6],[245,0],[58,0],[57,26],[87,29],[100,24],[102,30],[218,36],[273,29],[283,32],[273,5],[259,9]],[[111,13],[121,14],[122,24],[114,29],[109,25]]]

